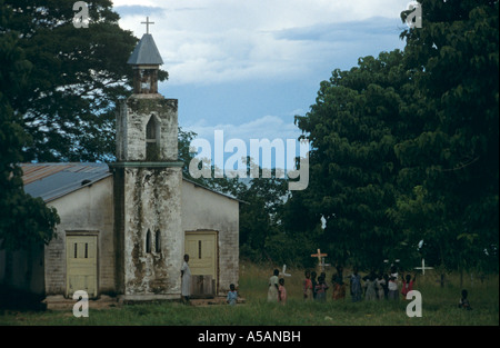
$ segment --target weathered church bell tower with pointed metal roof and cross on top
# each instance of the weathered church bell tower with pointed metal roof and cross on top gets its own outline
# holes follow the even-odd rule
[[[178,161],[178,100],[158,93],[163,63],[149,18],[128,60],[133,93],[117,113],[114,220],[117,289],[126,300],[180,297],[183,256],[182,162]]]

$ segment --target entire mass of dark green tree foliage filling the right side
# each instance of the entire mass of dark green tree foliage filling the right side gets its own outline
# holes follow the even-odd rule
[[[311,173],[289,206],[326,220],[304,231],[334,261],[498,269],[498,1],[421,3],[402,52],[334,70],[296,118]]]

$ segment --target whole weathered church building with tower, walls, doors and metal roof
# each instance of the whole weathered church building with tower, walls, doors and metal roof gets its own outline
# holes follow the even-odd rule
[[[22,166],[24,190],[61,223],[43,250],[0,250],[0,284],[46,296],[177,299],[188,253],[194,295],[238,285],[240,201],[182,177],[178,100],[158,93],[163,62],[151,34],[128,63],[133,93],[117,112],[116,162]]]

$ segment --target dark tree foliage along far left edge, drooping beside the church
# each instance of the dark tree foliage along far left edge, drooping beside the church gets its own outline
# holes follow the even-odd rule
[[[11,10],[0,0],[0,28],[11,19]],[[22,90],[31,68],[19,46],[19,32],[0,30],[0,249],[7,250],[30,250],[47,243],[59,223],[53,208],[24,192],[18,166],[30,137],[11,100]]]

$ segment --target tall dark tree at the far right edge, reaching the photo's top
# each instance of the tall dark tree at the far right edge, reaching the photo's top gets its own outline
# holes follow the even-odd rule
[[[422,28],[401,34],[423,102],[419,133],[397,146],[413,185],[397,218],[443,266],[498,269],[499,2],[421,3]]]

